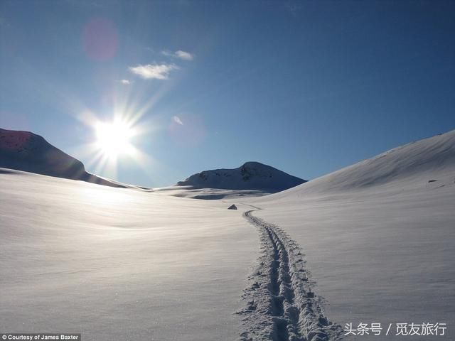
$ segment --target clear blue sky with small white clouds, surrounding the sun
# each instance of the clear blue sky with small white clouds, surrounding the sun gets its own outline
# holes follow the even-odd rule
[[[455,129],[454,1],[0,3],[0,126],[164,186],[260,161],[301,178]],[[139,117],[101,167],[84,119]]]

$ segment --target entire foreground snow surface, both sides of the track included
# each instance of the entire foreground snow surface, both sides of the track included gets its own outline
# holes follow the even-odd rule
[[[455,131],[256,198],[3,169],[0,330],[316,341],[346,323],[446,323],[346,340],[454,340],[454,182]]]

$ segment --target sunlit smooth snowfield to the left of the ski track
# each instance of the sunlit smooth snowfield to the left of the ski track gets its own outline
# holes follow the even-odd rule
[[[0,170],[0,330],[237,340],[257,232],[219,201]]]

